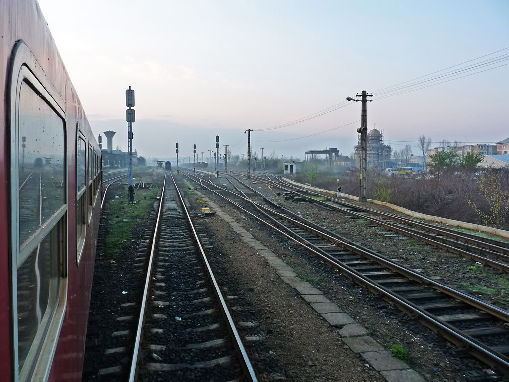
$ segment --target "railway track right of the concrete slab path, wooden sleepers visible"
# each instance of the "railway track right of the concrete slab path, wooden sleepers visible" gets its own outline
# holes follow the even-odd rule
[[[509,372],[509,313],[347,240],[278,206],[236,178],[236,193],[185,173],[486,364]],[[228,179],[228,177],[227,177]],[[234,182],[238,183],[235,184]],[[240,198],[243,205],[233,201]]]

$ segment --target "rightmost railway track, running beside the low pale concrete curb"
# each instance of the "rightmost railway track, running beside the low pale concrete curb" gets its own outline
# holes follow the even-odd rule
[[[287,182],[282,183],[278,179],[274,180],[274,177],[269,174],[266,174],[266,176],[269,179],[253,175],[251,175],[251,178],[257,182],[277,187],[284,192],[301,197],[322,208],[365,219],[397,235],[411,237],[456,255],[474,259],[479,263],[489,265],[503,272],[509,272],[508,242],[480,237],[430,223],[417,222],[406,217],[396,216],[371,208],[359,207],[341,199],[306,190]],[[322,200],[314,199],[316,197],[320,197]]]

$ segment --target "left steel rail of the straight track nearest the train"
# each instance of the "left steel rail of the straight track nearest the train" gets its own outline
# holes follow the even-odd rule
[[[164,202],[165,186],[166,186],[166,173],[164,174],[164,180],[162,183],[161,197],[159,198],[159,208],[157,210],[156,226],[154,229],[154,236],[152,237],[152,247],[150,248],[149,264],[147,267],[147,277],[145,278],[145,287],[143,289],[142,305],[140,307],[140,312],[139,312],[139,317],[138,317],[138,325],[137,325],[137,329],[136,329],[136,337],[134,340],[134,348],[132,351],[131,367],[129,370],[129,382],[134,382],[136,374],[137,374],[139,345],[142,342],[143,322],[145,319],[145,310],[147,308],[147,299],[148,299],[149,286],[150,286],[151,275],[152,275],[152,263],[153,263],[153,259],[154,259],[155,248],[156,248],[157,233],[158,233],[159,227],[161,225],[161,210],[162,210],[162,205]]]

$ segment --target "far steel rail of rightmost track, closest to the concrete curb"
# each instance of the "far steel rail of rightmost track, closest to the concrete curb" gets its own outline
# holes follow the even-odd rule
[[[418,227],[420,229],[431,231],[431,232],[435,232],[437,234],[441,234],[441,235],[444,235],[444,236],[450,236],[450,237],[457,238],[459,243],[461,243],[462,240],[464,240],[465,242],[474,243],[475,245],[479,245],[479,247],[481,247],[481,248],[476,248],[475,246],[473,246],[473,248],[476,248],[477,250],[488,249],[488,250],[491,250],[491,251],[494,251],[494,252],[499,251],[502,254],[509,255],[509,242],[504,242],[504,241],[501,241],[501,240],[495,240],[495,239],[491,239],[489,237],[480,238],[479,236],[477,236],[475,234],[472,234],[472,233],[469,233],[469,232],[460,232],[460,231],[456,231],[454,229],[447,228],[447,227],[437,227],[437,226],[435,226],[433,224],[426,223],[426,222],[416,222],[416,221],[411,220],[411,219],[409,219],[407,217],[397,216],[397,215],[393,215],[393,214],[390,214],[390,213],[385,213],[385,212],[382,212],[382,211],[377,211],[377,210],[374,210],[374,209],[371,209],[371,208],[356,206],[356,205],[354,205],[352,203],[345,202],[345,201],[343,201],[341,199],[332,198],[332,197],[327,196],[327,195],[323,195],[323,194],[320,194],[320,193],[313,192],[311,190],[300,188],[300,187],[298,187],[296,185],[293,185],[293,184],[290,184],[288,182],[281,182],[280,180],[274,181],[272,178],[270,178],[269,174],[266,174],[266,175],[269,178],[269,180],[272,183],[272,185],[276,185],[278,188],[281,188],[281,185],[283,185],[285,187],[296,188],[296,189],[300,190],[301,192],[306,192],[306,193],[309,193],[309,194],[313,194],[313,195],[322,196],[324,198],[327,198],[328,200],[330,200],[333,203],[341,204],[341,205],[348,206],[348,207],[351,207],[351,208],[355,208],[355,209],[358,209],[358,210],[361,210],[361,211],[365,211],[365,212],[369,212],[369,213],[372,213],[372,214],[375,214],[375,215],[386,217],[387,219],[391,219],[391,220],[399,221],[399,222],[402,222],[402,223],[406,223],[406,224]],[[266,179],[263,179],[263,178],[261,180],[264,181],[264,182],[267,181]]]

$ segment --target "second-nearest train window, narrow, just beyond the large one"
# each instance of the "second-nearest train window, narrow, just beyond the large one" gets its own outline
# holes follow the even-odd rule
[[[87,233],[87,144],[76,141],[76,262],[79,264]]]

